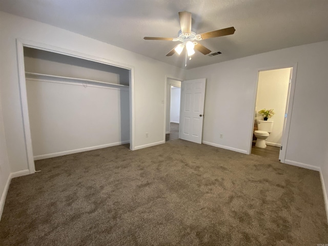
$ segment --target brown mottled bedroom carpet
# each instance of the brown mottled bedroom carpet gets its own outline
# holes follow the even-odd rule
[[[319,173],[183,140],[36,161],[14,178],[0,245],[328,243]]]

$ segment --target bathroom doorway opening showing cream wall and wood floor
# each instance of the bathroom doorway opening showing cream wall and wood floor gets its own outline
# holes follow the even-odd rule
[[[252,138],[251,153],[269,157],[274,161],[284,162],[284,152],[282,152],[283,142],[286,144],[288,132],[286,132],[286,119],[288,117],[288,106],[290,100],[293,68],[282,68],[274,70],[264,70],[258,73],[258,85],[256,93],[256,104],[254,112],[254,130]],[[261,110],[273,109],[274,115],[269,118],[273,121],[273,129],[265,139],[266,148],[255,147],[256,136],[254,131],[260,130],[259,123],[263,122]],[[285,136],[287,134],[287,136]]]

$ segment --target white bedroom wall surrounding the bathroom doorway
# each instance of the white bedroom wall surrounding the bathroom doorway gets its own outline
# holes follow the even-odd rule
[[[253,129],[259,70],[298,63],[286,161],[318,170],[326,158],[328,42],[253,55],[188,70],[207,78],[203,141],[247,153]],[[241,123],[241,124],[240,124]],[[220,139],[219,134],[223,134]]]

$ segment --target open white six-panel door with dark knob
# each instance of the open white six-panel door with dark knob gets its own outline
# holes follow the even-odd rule
[[[206,78],[181,82],[179,138],[201,144]]]

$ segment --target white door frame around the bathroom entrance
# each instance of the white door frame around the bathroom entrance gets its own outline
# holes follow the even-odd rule
[[[282,135],[282,149],[281,151],[281,159],[280,162],[285,163],[285,158],[286,158],[286,150],[288,146],[288,138],[289,138],[289,131],[291,127],[291,118],[292,118],[292,110],[293,110],[293,103],[294,103],[294,94],[295,94],[295,85],[296,85],[296,75],[297,75],[297,65],[298,63],[295,64],[290,64],[290,65],[285,65],[285,66],[276,66],[276,67],[266,67],[266,68],[260,68],[257,70],[257,80],[256,80],[256,86],[254,90],[254,98],[253,98],[253,108],[252,108],[252,114],[253,114],[253,121],[250,129],[250,141],[249,141],[249,153],[251,154],[252,152],[252,141],[253,141],[253,133],[254,133],[254,120],[255,120],[255,105],[256,105],[256,96],[257,96],[257,88],[258,88],[258,78],[259,78],[259,73],[262,71],[268,71],[268,70],[277,70],[277,69],[284,69],[284,68],[292,68],[292,79],[291,79],[291,89],[289,92],[289,95],[287,96],[288,98],[288,108],[287,108],[287,117],[286,117],[286,125],[283,129],[283,135]],[[287,102],[287,101],[286,101]]]

